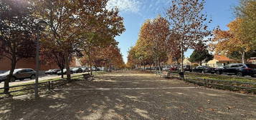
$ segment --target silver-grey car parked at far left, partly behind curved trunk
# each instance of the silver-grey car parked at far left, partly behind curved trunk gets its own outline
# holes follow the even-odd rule
[[[9,76],[10,71],[6,71],[3,74],[0,74],[0,82],[5,81]],[[14,69],[14,74],[11,76],[11,81],[20,81],[24,79],[35,79],[36,72],[33,69]]]

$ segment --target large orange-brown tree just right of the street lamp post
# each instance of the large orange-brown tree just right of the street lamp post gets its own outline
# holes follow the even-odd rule
[[[108,0],[34,0],[35,13],[49,24],[45,31],[52,45],[65,53],[67,80],[70,81],[70,56],[112,40],[124,31],[118,10],[105,9]]]

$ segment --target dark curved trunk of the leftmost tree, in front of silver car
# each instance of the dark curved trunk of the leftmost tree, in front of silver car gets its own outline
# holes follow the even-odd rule
[[[14,74],[14,69],[16,67],[16,56],[12,56],[11,60],[11,69],[9,75],[7,76],[6,80],[4,81],[4,94],[11,95],[9,93],[9,82],[11,80],[12,75]]]

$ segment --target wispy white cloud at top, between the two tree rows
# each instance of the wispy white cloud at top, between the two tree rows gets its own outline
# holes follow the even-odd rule
[[[141,7],[141,1],[138,0],[110,0],[107,9],[117,7],[120,11],[138,13]]]

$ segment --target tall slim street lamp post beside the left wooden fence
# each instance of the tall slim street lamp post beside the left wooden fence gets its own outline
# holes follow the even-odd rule
[[[38,95],[38,76],[39,76],[39,27],[40,26],[47,26],[47,22],[41,20],[37,23],[36,81],[35,81],[35,84],[34,84],[34,96],[35,96],[35,98],[39,97],[39,95]]]

